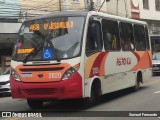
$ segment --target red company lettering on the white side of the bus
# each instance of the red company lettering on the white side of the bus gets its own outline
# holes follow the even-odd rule
[[[117,58],[117,66],[122,66],[122,65],[130,65],[131,64],[131,58]]]

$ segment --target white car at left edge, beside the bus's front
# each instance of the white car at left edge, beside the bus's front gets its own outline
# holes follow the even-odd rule
[[[0,75],[0,96],[11,95],[10,89],[10,69]]]

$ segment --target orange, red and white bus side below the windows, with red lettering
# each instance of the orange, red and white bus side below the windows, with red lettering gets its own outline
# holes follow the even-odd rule
[[[150,55],[146,51],[99,52],[86,58],[85,83],[99,76],[103,79],[102,93],[105,94],[134,86],[138,71],[142,72],[145,81],[151,76],[150,69]],[[91,84],[85,90],[88,91],[89,87]]]

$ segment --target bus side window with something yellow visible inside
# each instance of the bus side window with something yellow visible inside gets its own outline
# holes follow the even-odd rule
[[[103,19],[102,26],[105,50],[120,50],[118,22]]]

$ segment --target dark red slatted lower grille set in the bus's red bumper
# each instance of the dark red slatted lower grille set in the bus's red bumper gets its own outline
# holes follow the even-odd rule
[[[56,94],[64,92],[64,88],[34,88],[23,90],[28,95]]]

